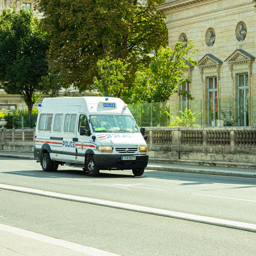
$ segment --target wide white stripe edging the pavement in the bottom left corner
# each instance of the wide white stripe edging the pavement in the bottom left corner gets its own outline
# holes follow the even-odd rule
[[[81,252],[81,253],[85,253],[86,255],[91,255],[91,256],[121,256],[115,253],[111,253],[111,252],[107,252],[107,251],[103,251],[100,249],[96,249],[93,247],[88,247],[88,246],[84,246],[81,244],[77,244],[77,243],[72,243],[66,240],[62,240],[62,239],[57,239],[54,237],[49,237],[49,236],[45,236],[39,233],[35,233],[35,232],[31,232],[25,229],[20,229],[20,228],[15,228],[12,226],[7,226],[4,224],[0,224],[0,230],[2,231],[6,231],[15,235],[19,235],[22,237],[27,237],[30,239],[34,239],[40,242],[44,242],[44,243],[49,243],[49,244],[53,244],[55,246],[60,246],[62,248],[66,248],[69,250],[73,250],[73,251],[77,251],[77,252]],[[26,244],[24,244],[24,247],[26,246]]]

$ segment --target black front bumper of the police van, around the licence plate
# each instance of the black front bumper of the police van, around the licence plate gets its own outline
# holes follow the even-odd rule
[[[131,156],[131,155],[122,155]],[[145,168],[148,163],[148,155],[133,155],[135,160],[122,160],[121,156],[116,155],[93,155],[95,164],[100,170],[130,170],[135,168]]]

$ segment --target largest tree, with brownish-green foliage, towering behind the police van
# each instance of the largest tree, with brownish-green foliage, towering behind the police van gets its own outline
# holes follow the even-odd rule
[[[167,45],[165,15],[154,6],[165,0],[41,0],[43,27],[50,31],[49,53],[57,69],[65,70],[63,81],[79,91],[90,89],[98,75],[96,63],[108,45],[113,59],[147,63],[147,55],[160,45]],[[132,77],[133,78],[133,77]],[[125,85],[133,80],[125,79]]]

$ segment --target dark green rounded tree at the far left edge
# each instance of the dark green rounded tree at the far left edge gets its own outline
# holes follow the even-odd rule
[[[0,87],[21,95],[31,113],[38,99],[41,76],[46,74],[45,33],[33,12],[4,10],[0,16]]]

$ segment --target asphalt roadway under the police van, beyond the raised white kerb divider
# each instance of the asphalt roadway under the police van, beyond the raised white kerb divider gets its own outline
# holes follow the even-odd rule
[[[101,171],[60,166],[43,172],[33,160],[0,158],[0,183],[201,216],[256,223],[255,179],[145,170]]]

